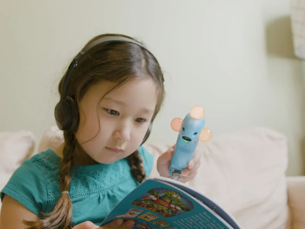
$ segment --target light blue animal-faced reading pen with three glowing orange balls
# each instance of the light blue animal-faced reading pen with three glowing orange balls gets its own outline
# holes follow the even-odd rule
[[[204,128],[206,121],[203,116],[203,108],[194,106],[183,120],[174,118],[170,123],[171,128],[179,132],[169,169],[174,180],[181,176],[181,170],[187,168],[188,162],[194,157],[198,141],[207,142],[212,137],[211,131]]]

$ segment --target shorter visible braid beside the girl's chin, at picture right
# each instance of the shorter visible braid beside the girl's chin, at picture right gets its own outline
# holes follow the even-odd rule
[[[137,181],[142,183],[146,180],[146,173],[139,151],[136,150],[133,154],[129,155],[127,159],[130,161],[131,173],[135,176]]]

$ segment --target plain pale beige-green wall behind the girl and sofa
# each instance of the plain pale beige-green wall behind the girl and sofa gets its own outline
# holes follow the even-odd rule
[[[289,0],[10,0],[0,2],[0,130],[54,125],[57,83],[95,35],[143,40],[162,64],[167,100],[150,142],[200,104],[213,136],[267,126],[289,139],[289,175],[302,173],[303,78],[292,53]],[[276,159],[276,158],[274,158]]]

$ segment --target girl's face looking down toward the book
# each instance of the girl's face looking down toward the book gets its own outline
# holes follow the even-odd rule
[[[77,141],[95,162],[109,164],[132,154],[143,141],[156,104],[157,88],[151,78],[133,79],[115,86],[93,85],[79,103]]]

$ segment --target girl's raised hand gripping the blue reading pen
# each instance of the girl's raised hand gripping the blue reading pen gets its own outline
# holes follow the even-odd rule
[[[175,145],[159,156],[157,160],[157,170],[160,176],[170,178],[168,170],[170,168],[170,162],[173,157],[174,149]],[[196,150],[194,157],[190,162],[188,162],[188,168],[181,171],[181,177],[178,178],[179,181],[186,183],[196,176],[200,166],[200,157],[201,154]]]

